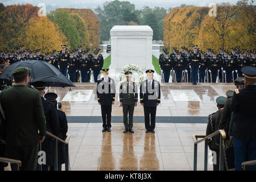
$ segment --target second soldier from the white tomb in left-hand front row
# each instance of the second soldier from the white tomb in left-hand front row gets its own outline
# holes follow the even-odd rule
[[[81,55],[82,57],[79,59],[79,72],[81,74],[81,81],[87,82],[88,72],[90,69],[90,56],[88,55],[88,51],[81,52]]]

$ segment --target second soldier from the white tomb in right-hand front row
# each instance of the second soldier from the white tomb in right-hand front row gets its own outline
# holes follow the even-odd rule
[[[176,77],[176,82],[180,83],[181,82],[181,77],[182,77],[182,71],[184,69],[185,61],[183,57],[181,57],[181,53],[177,52],[177,57],[174,60],[174,70],[175,74],[174,76]]]

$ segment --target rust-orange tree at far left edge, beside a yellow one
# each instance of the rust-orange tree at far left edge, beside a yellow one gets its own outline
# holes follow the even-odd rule
[[[26,39],[28,21],[31,18],[38,17],[39,7],[26,5],[10,5],[5,9],[1,8],[0,13],[0,49],[13,49],[19,47]],[[26,45],[25,45],[26,47]]]

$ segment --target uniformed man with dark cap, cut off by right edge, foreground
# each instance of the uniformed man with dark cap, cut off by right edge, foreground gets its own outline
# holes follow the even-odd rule
[[[241,72],[246,86],[235,90],[231,103],[236,114],[232,131],[236,170],[242,170],[243,162],[256,160],[256,68],[246,66]],[[249,168],[255,171],[256,165]]]

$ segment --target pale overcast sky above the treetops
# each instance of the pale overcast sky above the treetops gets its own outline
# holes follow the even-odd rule
[[[119,0],[122,1],[122,0]],[[143,6],[149,7],[164,7],[168,9],[169,7],[177,7],[181,4],[194,5],[194,6],[209,6],[210,3],[221,3],[229,2],[232,5],[235,5],[238,0],[126,0],[133,3],[136,9],[142,9]],[[97,6],[102,6],[106,0],[0,0],[5,6],[13,4],[23,4],[31,3],[32,5],[39,5],[39,3],[45,3],[50,9],[58,7],[71,7],[71,8],[89,8],[95,9]],[[255,3],[254,3],[255,4]],[[49,10],[47,10],[48,12]]]

